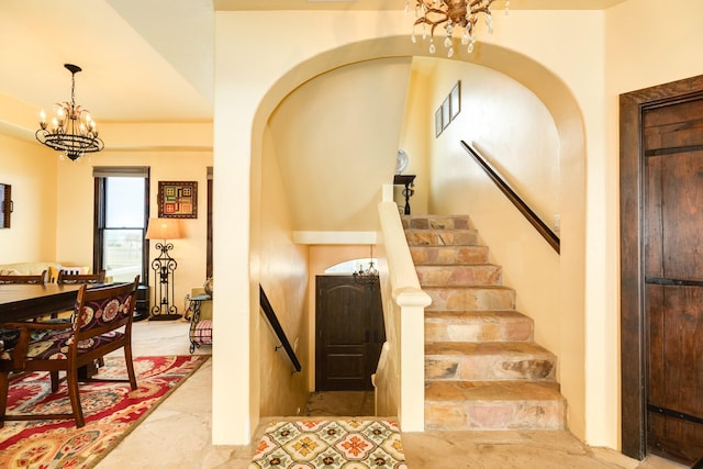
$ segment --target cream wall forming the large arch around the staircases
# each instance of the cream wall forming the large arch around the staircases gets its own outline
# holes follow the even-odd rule
[[[615,314],[601,309],[606,290],[601,273],[584,269],[587,253],[594,257],[591,265],[604,260],[601,246],[605,241],[600,230],[602,206],[592,204],[590,199],[587,203],[584,190],[585,183],[589,188],[598,187],[599,174],[593,171],[591,159],[598,160],[604,153],[603,18],[599,11],[523,10],[513,11],[507,18],[496,15],[495,33],[481,37],[484,46],[478,47],[472,56],[458,52],[454,58],[476,62],[516,79],[534,91],[555,119],[560,135],[559,196],[562,208],[568,206],[561,211],[563,244],[559,288],[562,295],[559,302],[560,308],[580,311],[576,314],[581,317],[570,322],[573,332],[561,340],[561,350],[569,356],[567,360],[578,366],[569,370],[562,367],[561,378],[574,397],[570,406],[581,415],[574,425],[577,434],[589,443],[614,447],[618,427],[614,404],[618,397],[616,370],[611,364],[616,361],[616,342],[602,334],[583,333],[585,324],[598,325]],[[249,169],[260,159],[268,116],[291,90],[315,75],[359,59],[426,55],[426,45],[413,45],[409,41],[408,21],[398,11],[216,12],[214,163],[219,174],[225,175],[231,183],[215,187],[215,205],[217,200],[236,200],[243,206],[242,217],[237,220],[248,220]],[[259,25],[264,23],[277,34],[259,34]],[[299,24],[315,26],[301,30]],[[257,37],[257,41],[242,47],[242,37]],[[261,60],[260,57],[276,59]],[[242,67],[242,64],[254,63],[257,67]],[[595,230],[587,232],[587,223],[589,227],[595,224]],[[237,225],[233,220],[215,224],[215,257],[227,266],[219,269],[215,265],[215,278],[226,282],[233,294],[243,299],[230,308],[226,315],[219,316],[222,327],[215,331],[215,356],[242,357],[235,370],[231,362],[215,360],[213,364],[213,442],[216,444],[248,443],[252,427],[258,422],[258,409],[253,405],[253,395],[259,392],[253,376],[258,371],[248,362],[252,342],[248,337],[235,336],[235,331],[249,328],[249,336],[257,337],[252,317],[258,314],[258,279],[249,264],[249,227]],[[589,303],[584,304],[587,297]],[[226,304],[215,298],[215,316],[220,308],[224,312]],[[580,340],[572,340],[573,334],[579,335]],[[587,340],[585,347],[580,347],[583,340]],[[605,362],[588,382],[583,373],[587,361]],[[231,378],[233,371],[236,380]],[[565,377],[565,371],[570,375]],[[249,390],[248,395],[242,394],[241,400],[233,402],[232,393],[243,389]],[[587,420],[585,395],[594,395],[594,389],[604,390],[605,398],[589,403]]]

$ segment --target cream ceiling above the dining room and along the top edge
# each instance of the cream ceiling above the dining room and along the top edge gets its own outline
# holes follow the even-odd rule
[[[511,0],[511,9],[605,9],[625,0]],[[502,8],[503,0],[495,4]],[[100,122],[212,120],[217,10],[402,10],[404,0],[2,0],[0,93],[38,109],[70,99]],[[10,46],[8,46],[10,45]],[[12,46],[13,45],[13,46]],[[38,111],[37,111],[38,112]]]

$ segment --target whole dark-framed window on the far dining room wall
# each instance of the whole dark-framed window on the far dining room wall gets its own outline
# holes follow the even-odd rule
[[[148,283],[149,178],[144,167],[96,167],[93,271]]]

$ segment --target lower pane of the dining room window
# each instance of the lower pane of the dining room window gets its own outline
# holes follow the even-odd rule
[[[134,281],[142,275],[142,230],[105,230],[103,259],[108,277],[113,281]],[[146,279],[141,279],[145,282]]]

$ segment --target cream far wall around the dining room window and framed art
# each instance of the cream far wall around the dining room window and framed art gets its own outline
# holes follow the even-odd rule
[[[114,124],[101,126],[101,134],[110,145],[138,148],[144,141],[130,139],[126,127],[112,132]],[[133,124],[135,135],[148,133],[150,124]],[[118,125],[114,125],[118,127]],[[124,150],[105,149],[77,161],[64,160],[57,165],[57,217],[56,217],[56,256],[67,265],[92,266],[92,224],[93,224],[93,166],[148,166],[149,180],[149,216],[158,216],[158,181],[197,181],[198,182],[198,217],[180,219],[183,237],[174,239],[171,256],[178,263],[175,271],[175,300],[179,311],[183,309],[183,299],[193,287],[201,287],[205,281],[205,248],[208,230],[208,181],[207,167],[212,166],[212,153],[209,150],[187,150],[187,148],[166,146],[170,143],[186,143],[196,148],[207,147],[212,138],[210,124],[158,124],[152,131],[154,144],[161,145],[163,150]],[[122,138],[121,138],[122,136]],[[216,178],[216,176],[215,176]],[[149,257],[158,252],[152,241]],[[149,284],[154,286],[153,272],[149,271]],[[152,299],[153,301],[153,299]]]

